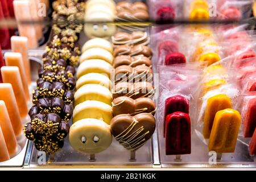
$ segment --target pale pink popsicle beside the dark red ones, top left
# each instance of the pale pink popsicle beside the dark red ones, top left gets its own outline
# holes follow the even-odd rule
[[[22,21],[31,21],[30,6],[28,0],[13,1],[14,14],[18,22],[18,30],[20,36],[28,38],[28,48],[38,47],[38,39],[36,38],[36,30],[34,24],[22,24]]]

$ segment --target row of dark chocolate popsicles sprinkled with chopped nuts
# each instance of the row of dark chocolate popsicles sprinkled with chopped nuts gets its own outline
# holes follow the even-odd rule
[[[71,4],[69,4],[71,3]],[[81,3],[83,4],[83,3]],[[53,2],[52,16],[61,15],[60,9],[80,6],[80,2]],[[68,12],[67,12],[68,13]],[[77,27],[52,26],[52,37],[42,56],[37,87],[32,92],[33,106],[29,111],[31,121],[24,126],[24,134],[35,148],[55,154],[64,146],[72,119],[76,86],[76,65],[81,54]]]

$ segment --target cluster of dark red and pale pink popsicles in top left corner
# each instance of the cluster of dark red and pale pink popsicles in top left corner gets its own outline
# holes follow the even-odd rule
[[[0,20],[15,18],[18,22],[18,34],[28,38],[28,48],[38,47],[38,41],[43,37],[43,26],[21,22],[43,20],[47,16],[49,2],[46,0],[1,0],[0,3]],[[10,49],[10,38],[15,34],[14,29],[6,26],[1,27],[0,31],[2,49]]]

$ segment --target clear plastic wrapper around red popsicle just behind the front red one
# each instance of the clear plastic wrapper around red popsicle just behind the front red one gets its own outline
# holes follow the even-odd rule
[[[193,110],[196,109],[195,101],[199,94],[201,85],[202,67],[196,69],[187,68],[186,64],[172,66],[158,66],[159,71],[159,98],[158,98],[158,122],[161,126],[164,123],[164,110],[167,98],[182,96],[189,102],[191,121],[193,125]]]

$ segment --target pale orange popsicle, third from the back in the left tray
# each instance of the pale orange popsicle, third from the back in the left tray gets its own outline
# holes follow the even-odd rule
[[[27,116],[27,101],[23,92],[22,80],[18,67],[2,67],[1,74],[4,83],[10,83],[13,86],[15,98],[19,107],[21,118]]]

